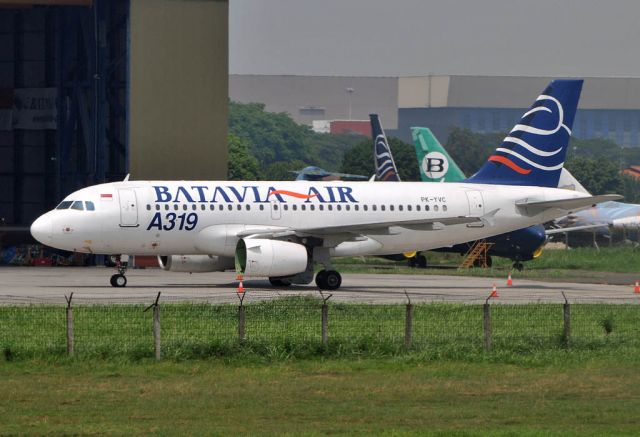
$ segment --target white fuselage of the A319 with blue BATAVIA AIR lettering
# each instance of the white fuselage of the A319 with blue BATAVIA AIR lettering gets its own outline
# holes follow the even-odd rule
[[[127,181],[76,191],[65,201],[81,201],[82,209],[76,204],[75,209],[52,210],[34,222],[32,233],[44,244],[77,252],[233,256],[237,235],[251,229],[294,230],[298,235],[326,229],[323,246],[332,256],[384,255],[445,247],[539,224],[567,211],[530,216],[516,202],[568,197],[586,195],[464,183]],[[87,210],[86,202],[92,202],[94,210]],[[454,217],[482,220],[446,226],[384,225]],[[350,228],[331,232],[340,226]]]

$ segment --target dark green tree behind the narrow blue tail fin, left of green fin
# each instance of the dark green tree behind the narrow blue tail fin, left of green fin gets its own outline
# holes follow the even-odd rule
[[[400,178],[403,181],[419,181],[420,170],[413,146],[394,137],[389,137],[388,140]],[[367,138],[349,149],[344,154],[340,171],[364,176],[374,174],[373,141]]]

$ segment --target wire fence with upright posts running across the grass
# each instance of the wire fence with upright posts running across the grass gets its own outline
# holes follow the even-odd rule
[[[287,297],[234,304],[163,302],[0,306],[4,359],[399,354],[633,347],[636,304],[360,304]]]

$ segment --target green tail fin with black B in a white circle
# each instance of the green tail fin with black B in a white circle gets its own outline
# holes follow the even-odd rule
[[[426,127],[412,127],[420,177],[424,182],[459,182],[465,175]]]

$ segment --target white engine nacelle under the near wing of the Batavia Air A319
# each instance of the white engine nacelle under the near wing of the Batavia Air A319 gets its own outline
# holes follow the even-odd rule
[[[307,269],[307,249],[279,240],[243,239],[236,245],[236,269],[245,276],[291,276]]]

